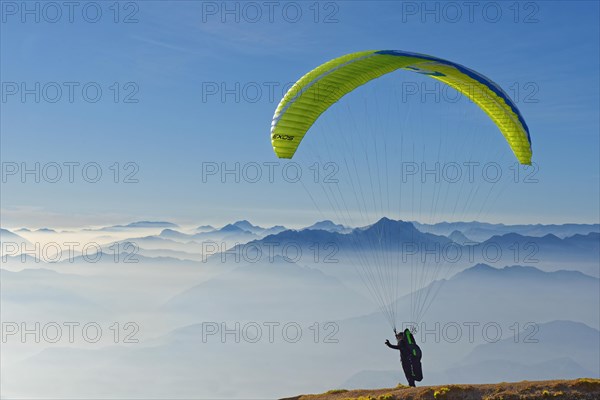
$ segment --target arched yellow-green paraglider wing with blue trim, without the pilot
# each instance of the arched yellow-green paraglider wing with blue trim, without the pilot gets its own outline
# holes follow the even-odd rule
[[[485,76],[462,65],[424,54],[369,50],[348,54],[300,78],[280,101],[271,123],[279,158],[292,158],[306,132],[333,103],[365,83],[405,69],[429,75],[470,98],[494,121],[521,164],[531,164],[531,139],[508,95]]]

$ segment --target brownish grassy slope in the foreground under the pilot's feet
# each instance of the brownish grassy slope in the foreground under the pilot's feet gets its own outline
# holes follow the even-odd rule
[[[330,390],[283,400],[600,400],[600,379],[522,381],[486,385],[444,385],[391,389]]]

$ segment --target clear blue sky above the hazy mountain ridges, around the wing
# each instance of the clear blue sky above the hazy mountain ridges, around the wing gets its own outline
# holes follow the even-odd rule
[[[316,210],[300,185],[281,177],[257,183],[242,177],[238,183],[226,176],[223,183],[212,175],[203,179],[203,168],[206,173],[209,165],[234,168],[241,163],[243,168],[280,162],[268,133],[284,88],[331,58],[365,49],[446,58],[485,74],[516,97],[531,131],[539,182],[504,187],[494,202],[473,206],[485,208],[484,214],[471,213],[465,205],[459,217],[506,223],[599,221],[598,2],[478,2],[472,10],[461,2],[272,4],[269,10],[264,2],[121,2],[117,15],[113,2],[80,3],[71,22],[66,8],[58,15],[43,3],[3,1],[3,226],[109,225],[139,219],[218,225],[241,218],[265,225],[308,225],[328,216]],[[23,7],[34,11],[24,13]],[[403,81],[422,82],[399,72],[361,88],[332,107],[330,119],[315,124],[315,132],[336,120],[338,129],[346,129],[349,114],[361,118],[357,124],[379,121],[383,112],[357,112],[369,102],[369,110],[382,103],[388,110],[394,108],[389,104],[407,106],[399,111],[405,125],[397,123],[392,111],[385,115],[387,122],[396,121],[396,131],[407,131],[407,140],[409,130],[422,134],[419,127],[452,135],[452,126],[472,123],[471,129],[493,137],[481,146],[503,145],[485,115],[468,102],[431,104],[427,96],[404,102],[386,91],[393,85],[402,88]],[[36,82],[40,101],[35,93],[23,100],[22,84],[35,92]],[[72,102],[69,85],[74,88]],[[92,102],[97,88],[102,94]],[[229,91],[224,94],[223,88]],[[374,103],[378,93],[383,94]],[[127,95],[137,102],[125,102]],[[459,115],[462,122],[454,120]],[[374,124],[384,129],[384,124]],[[459,137],[466,141],[472,136]],[[454,150],[464,147],[458,143]],[[485,153],[477,144],[469,149]],[[514,160],[504,150],[502,162],[509,165]],[[305,173],[313,161],[300,157]],[[73,182],[66,177],[65,163],[71,162],[79,163],[69,164]],[[40,171],[45,168],[39,183],[34,175],[23,179],[19,174],[35,163]],[[55,183],[54,163],[62,172]],[[87,180],[102,171],[95,183],[81,176],[89,163]],[[12,175],[15,166],[19,170]],[[127,173],[137,182],[123,182]],[[411,215],[414,210],[400,214]],[[457,217],[437,211],[428,215]]]

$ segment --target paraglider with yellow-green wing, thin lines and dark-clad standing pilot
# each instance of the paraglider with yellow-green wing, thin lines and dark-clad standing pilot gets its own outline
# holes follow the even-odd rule
[[[342,97],[374,79],[399,69],[426,75],[465,95],[493,121],[518,162],[523,165],[531,165],[532,149],[529,128],[515,103],[500,86],[484,75],[452,61],[398,50],[369,50],[347,54],[328,61],[301,77],[279,102],[271,122],[271,144],[277,157],[292,158],[316,120]],[[360,134],[362,135],[363,132]],[[345,132],[342,133],[343,139],[345,139],[344,135]],[[334,142],[332,146],[342,147],[343,142],[344,140]],[[359,146],[363,147],[362,150],[364,150],[364,144],[359,144]],[[377,149],[376,145],[375,148]],[[384,154],[385,167],[388,165],[386,157],[387,155]],[[372,161],[368,159],[368,156],[366,158],[366,165],[369,166]],[[356,167],[355,161],[352,160],[352,162],[344,164],[349,171],[354,167],[356,175],[350,176],[349,182],[352,191],[359,192],[359,195],[353,193],[358,203],[358,212],[362,216],[366,216],[369,215],[368,200],[366,201],[365,196],[363,196],[363,186],[361,186],[358,176],[360,175],[360,169]],[[376,169],[379,171],[380,161],[377,157],[375,157],[375,163]],[[387,171],[385,173],[387,174]],[[373,189],[371,170],[367,174],[363,173],[363,175],[367,176],[368,183]],[[355,179],[357,180],[356,185]],[[379,182],[380,194],[382,192],[389,193],[388,184],[389,179],[387,177],[384,184]],[[385,187],[385,190],[382,190],[382,187]],[[330,188],[323,191],[328,196],[333,208],[339,208],[340,215],[350,219],[351,211],[347,202],[344,199],[337,201],[338,197],[336,196],[340,194],[339,187],[337,189],[337,192]],[[437,193],[439,195],[439,191]],[[389,198],[387,200],[388,205],[393,203],[389,201]],[[360,204],[361,201],[362,204]],[[376,205],[377,203],[373,196],[372,204]],[[383,211],[382,204],[384,202],[380,201],[379,203],[381,207],[377,211]],[[364,272],[363,282],[378,301],[388,322],[394,327],[398,344],[393,345],[388,340],[385,341],[385,344],[400,351],[404,373],[409,385],[414,386],[415,381],[418,382],[423,379],[421,349],[415,343],[414,336],[409,329],[399,333],[396,332],[395,300],[398,298],[398,290],[394,283],[400,275],[398,265],[394,264],[393,258],[389,256],[391,228],[387,228],[390,226],[389,220],[385,216],[383,217],[379,223],[374,224],[377,228],[378,237],[366,244],[357,241],[354,243],[354,248],[359,256],[357,257],[358,262]],[[412,236],[415,235],[412,225],[407,226],[406,229],[412,229]],[[420,232],[416,234],[418,235]],[[379,255],[376,255],[373,259],[370,259],[368,255],[369,246],[378,246],[380,249]],[[367,248],[366,251],[365,248]],[[361,250],[363,250],[362,253]],[[411,267],[411,279],[413,280],[411,288],[417,289],[418,285],[423,288],[425,278],[435,278],[439,270],[440,266],[438,265],[429,270],[423,268],[424,272],[419,274],[417,271],[412,271]],[[413,316],[416,317],[412,321],[416,323],[420,319],[427,310],[427,302],[435,298],[435,293],[432,295],[432,292],[439,289],[439,287],[440,285],[430,285],[427,290],[413,290],[411,292],[411,306]]]

